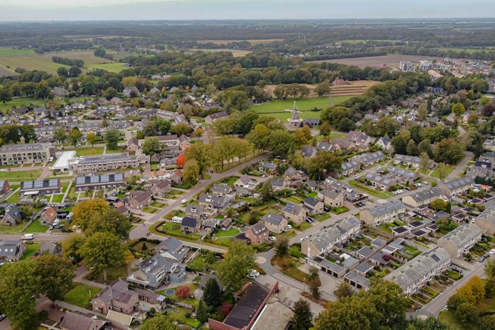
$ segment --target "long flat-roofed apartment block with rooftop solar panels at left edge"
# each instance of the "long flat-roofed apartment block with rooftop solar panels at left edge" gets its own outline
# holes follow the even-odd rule
[[[50,159],[50,144],[26,143],[0,146],[0,165],[45,163]]]

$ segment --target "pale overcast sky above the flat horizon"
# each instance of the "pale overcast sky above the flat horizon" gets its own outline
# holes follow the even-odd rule
[[[495,0],[0,0],[0,21],[494,17]]]

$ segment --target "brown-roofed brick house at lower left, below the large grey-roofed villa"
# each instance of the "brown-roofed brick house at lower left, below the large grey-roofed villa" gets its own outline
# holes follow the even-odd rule
[[[109,311],[132,314],[139,305],[139,295],[122,280],[115,281],[91,299],[94,311],[107,315]]]

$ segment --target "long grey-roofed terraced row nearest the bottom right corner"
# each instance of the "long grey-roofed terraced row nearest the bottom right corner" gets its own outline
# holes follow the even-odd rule
[[[435,276],[445,272],[449,265],[449,252],[437,246],[419,254],[415,259],[411,259],[405,265],[393,270],[384,278],[397,283],[408,296],[411,296]]]

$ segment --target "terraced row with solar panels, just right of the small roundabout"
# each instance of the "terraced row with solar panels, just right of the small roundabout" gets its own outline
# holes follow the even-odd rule
[[[301,242],[301,253],[308,258],[328,254],[336,244],[343,243],[358,234],[360,228],[361,222],[353,216],[337,221],[304,239]]]

